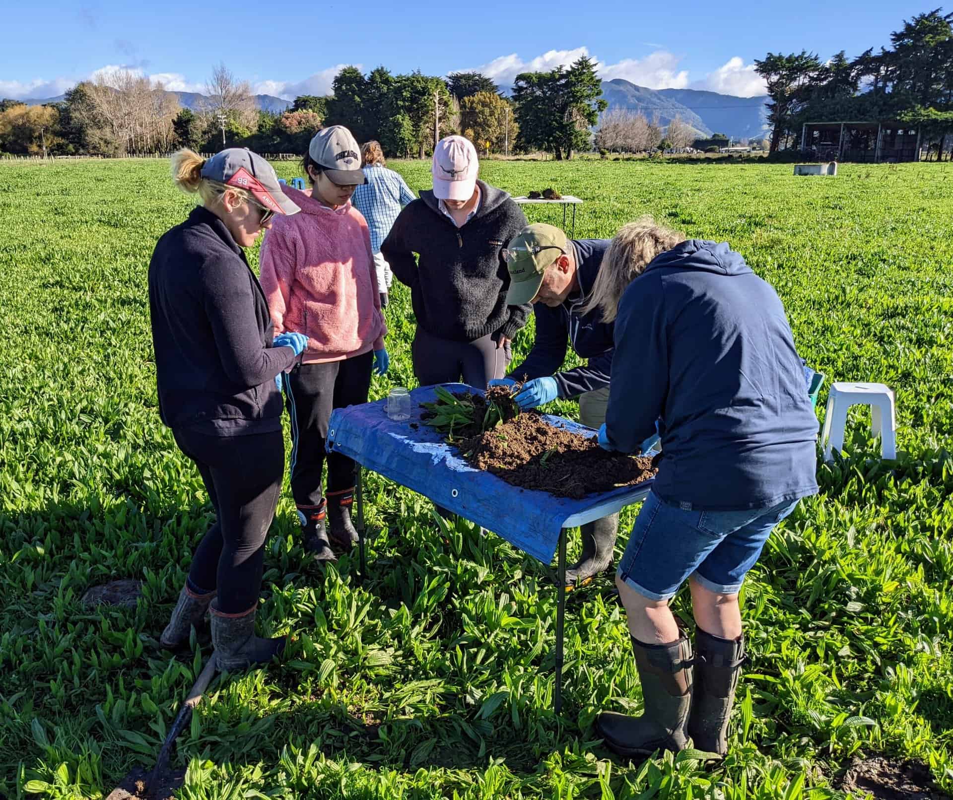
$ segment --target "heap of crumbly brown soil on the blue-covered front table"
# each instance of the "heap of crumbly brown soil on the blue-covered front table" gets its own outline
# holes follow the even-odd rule
[[[488,400],[504,410],[505,421],[495,427],[475,426],[450,441],[471,466],[512,486],[579,499],[641,483],[658,472],[656,459],[607,452],[595,438],[550,425],[537,410],[519,411],[507,387],[491,387],[487,399],[454,396],[472,402],[477,419],[483,419]]]

